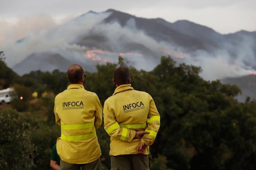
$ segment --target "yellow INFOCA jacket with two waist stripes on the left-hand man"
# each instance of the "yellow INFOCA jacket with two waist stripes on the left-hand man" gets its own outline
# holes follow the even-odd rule
[[[57,153],[67,163],[90,163],[101,155],[96,130],[102,122],[98,96],[71,84],[55,97],[55,121],[61,126]]]

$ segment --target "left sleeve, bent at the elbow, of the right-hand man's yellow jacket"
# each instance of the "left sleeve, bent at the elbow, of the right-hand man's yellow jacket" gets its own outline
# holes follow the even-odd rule
[[[103,113],[104,128],[109,136],[126,142],[130,142],[135,138],[136,131],[120,127],[116,121],[114,110],[106,102],[104,103]]]

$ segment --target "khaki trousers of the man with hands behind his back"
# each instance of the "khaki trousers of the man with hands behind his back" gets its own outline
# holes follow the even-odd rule
[[[149,155],[111,155],[111,170],[149,170]]]

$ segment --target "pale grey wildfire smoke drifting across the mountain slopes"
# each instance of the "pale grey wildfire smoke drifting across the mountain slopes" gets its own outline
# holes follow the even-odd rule
[[[225,43],[223,49],[216,50],[214,53],[204,50],[188,53],[187,49],[178,46],[175,42],[159,42],[148,36],[144,31],[138,30],[135,20],[132,18],[125,23],[125,26],[121,26],[118,22],[102,22],[110,14],[111,12],[89,12],[50,31],[33,34],[14,44],[3,44],[1,49],[5,51],[7,56],[7,65],[13,67],[30,54],[42,54],[43,52],[60,54],[68,61],[92,63],[86,56],[86,50],[99,50],[101,48],[76,42],[81,42],[81,40],[86,42],[87,36],[93,35],[106,37],[106,39],[100,40],[97,45],[106,48],[103,50],[108,51],[108,53],[104,58],[113,63],[117,62],[118,53],[127,51],[130,44],[142,44],[142,48],[145,48],[144,51],[130,51],[133,53],[143,52],[142,56],[124,56],[137,69],[152,70],[159,64],[161,55],[168,55],[161,52],[161,49],[165,49],[184,56],[184,59],[174,58],[178,63],[185,62],[201,66],[203,70],[201,76],[206,80],[242,76],[256,72],[252,67],[256,65],[252,48],[255,40],[251,37],[242,36],[239,44],[235,46],[234,44]],[[224,49],[234,51],[237,56],[231,56]],[[98,61],[98,63],[104,64],[103,61]],[[30,65],[33,65],[33,63],[30,63]]]

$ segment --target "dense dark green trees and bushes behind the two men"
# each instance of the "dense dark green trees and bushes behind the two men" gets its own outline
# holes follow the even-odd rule
[[[119,65],[125,64],[119,58]],[[112,73],[116,66],[110,63],[97,65],[97,72],[86,73],[85,88],[97,93],[102,105],[114,92]],[[195,66],[176,65],[170,57],[162,57],[161,63],[152,71],[139,71],[130,66],[135,90],[152,95],[161,115],[161,127],[150,148],[151,169],[256,169],[256,102],[249,99],[244,103],[237,102],[234,97],[240,93],[238,87],[223,85],[218,80],[205,81],[199,76],[200,71],[201,68]],[[5,78],[9,81],[11,76]],[[35,169],[49,169],[50,150],[60,133],[54,122],[54,96],[66,89],[66,73],[32,71],[18,77],[11,85],[17,93],[28,96],[26,100],[17,99],[19,104],[14,102],[12,107],[22,111],[24,124],[31,126],[27,129],[31,133],[26,133],[29,134],[29,147],[34,149],[29,158]],[[39,94],[37,99],[31,97],[34,91]],[[19,108],[22,103],[27,106]],[[14,111],[4,112],[10,115]],[[0,121],[12,121],[7,118],[2,116]],[[20,125],[14,123],[10,128],[16,129],[16,126]],[[9,136],[15,135],[16,131],[9,131]],[[102,127],[97,135],[102,163],[109,168],[109,136]],[[8,150],[5,146],[3,149]],[[12,152],[13,157],[16,154]],[[8,161],[5,157],[1,160],[9,165]]]

